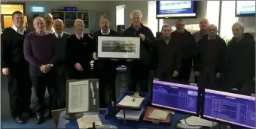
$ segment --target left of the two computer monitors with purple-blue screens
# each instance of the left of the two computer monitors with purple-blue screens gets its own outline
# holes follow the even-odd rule
[[[153,80],[151,90],[152,106],[199,115],[197,100],[197,86]]]

